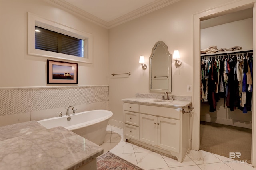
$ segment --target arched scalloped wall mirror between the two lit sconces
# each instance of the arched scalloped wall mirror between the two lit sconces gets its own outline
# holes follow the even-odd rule
[[[172,91],[172,55],[164,42],[158,41],[149,57],[149,91]]]

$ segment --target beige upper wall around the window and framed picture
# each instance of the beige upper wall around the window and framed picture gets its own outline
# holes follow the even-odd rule
[[[108,85],[108,29],[43,0],[0,0],[0,87],[47,86],[50,58],[27,55],[28,12],[92,34],[93,64],[78,63],[78,85]]]

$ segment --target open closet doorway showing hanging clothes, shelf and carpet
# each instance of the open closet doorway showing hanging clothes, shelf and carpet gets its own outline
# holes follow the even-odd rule
[[[252,90],[241,78],[251,80],[245,72],[247,65],[252,66],[252,23],[252,8],[200,21],[200,150],[225,157],[237,152],[240,156],[234,159],[247,163],[252,149]]]

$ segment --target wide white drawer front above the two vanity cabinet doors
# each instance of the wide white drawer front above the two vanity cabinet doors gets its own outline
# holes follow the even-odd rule
[[[154,116],[180,119],[180,108],[168,108],[158,106],[140,105],[140,113],[146,113]]]

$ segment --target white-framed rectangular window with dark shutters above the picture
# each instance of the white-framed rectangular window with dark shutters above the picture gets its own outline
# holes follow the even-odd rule
[[[28,55],[92,63],[92,35],[28,13]]]

